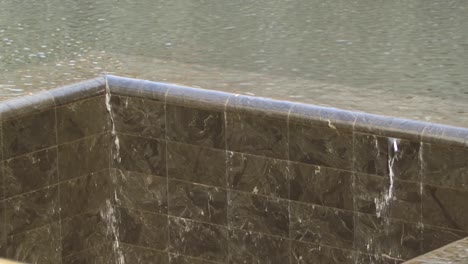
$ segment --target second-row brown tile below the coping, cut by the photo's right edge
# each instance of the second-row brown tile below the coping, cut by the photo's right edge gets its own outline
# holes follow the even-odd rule
[[[468,232],[468,192],[423,186],[423,223]]]

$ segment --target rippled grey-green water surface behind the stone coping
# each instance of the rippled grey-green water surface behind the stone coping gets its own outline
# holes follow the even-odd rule
[[[6,0],[0,96],[111,72],[429,121],[465,118],[467,13],[461,0]]]

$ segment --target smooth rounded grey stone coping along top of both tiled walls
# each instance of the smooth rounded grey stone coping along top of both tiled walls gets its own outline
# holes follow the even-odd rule
[[[100,96],[106,91],[110,91],[111,95],[138,97],[165,104],[247,113],[262,118],[286,118],[288,122],[326,126],[350,133],[468,147],[468,128],[113,75],[2,101],[0,118],[6,121],[19,115]]]

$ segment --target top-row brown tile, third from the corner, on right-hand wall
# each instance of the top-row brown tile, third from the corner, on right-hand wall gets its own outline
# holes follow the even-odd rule
[[[288,159],[287,119],[253,114],[226,113],[227,149],[236,152]]]

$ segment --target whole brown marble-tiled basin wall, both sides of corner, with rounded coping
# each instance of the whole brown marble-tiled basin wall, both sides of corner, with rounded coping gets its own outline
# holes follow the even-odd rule
[[[0,256],[387,264],[468,236],[466,129],[106,82],[0,103]]]

